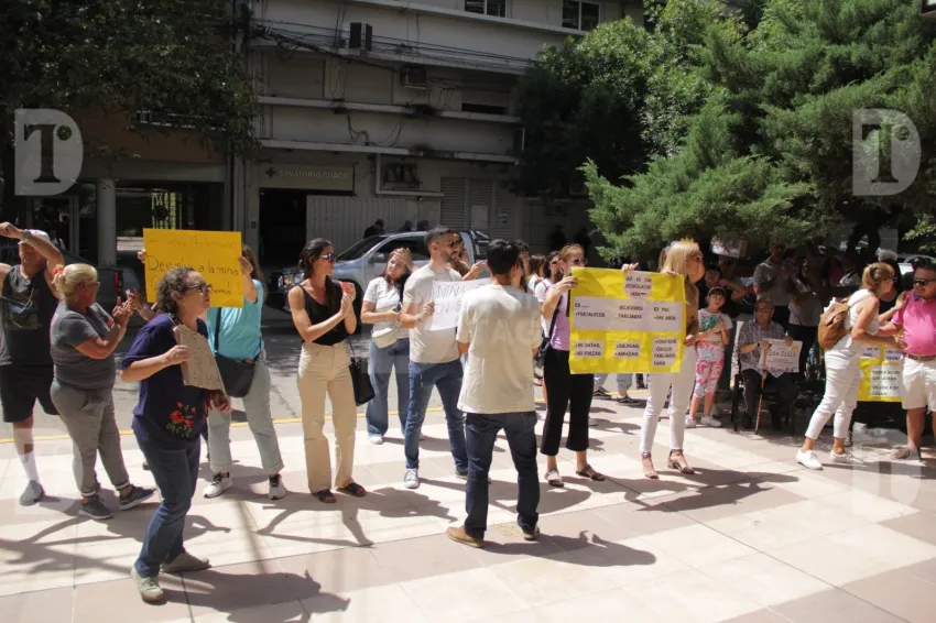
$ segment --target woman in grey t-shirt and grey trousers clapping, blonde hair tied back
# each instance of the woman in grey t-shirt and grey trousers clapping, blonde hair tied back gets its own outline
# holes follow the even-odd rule
[[[113,350],[127,334],[133,309],[117,299],[108,314],[97,304],[98,272],[88,264],[54,269],[53,283],[62,299],[50,329],[55,378],[51,395],[75,447],[73,470],[81,507],[78,514],[108,520],[113,514],[101,502],[95,464],[100,453],[107,476],[119,495],[119,509],[128,511],[149,500],[153,489],[130,482],[120,430],[113,414]]]

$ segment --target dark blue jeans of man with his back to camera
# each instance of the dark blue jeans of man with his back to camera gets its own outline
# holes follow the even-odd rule
[[[540,476],[536,470],[536,412],[468,414],[468,485],[465,488],[465,532],[483,538],[488,527],[488,472],[494,453],[494,441],[503,429],[513,466],[516,468],[516,523],[524,532],[533,532],[540,514]]]

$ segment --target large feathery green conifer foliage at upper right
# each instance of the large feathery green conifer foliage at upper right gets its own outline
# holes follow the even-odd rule
[[[897,0],[769,0],[742,37],[717,29],[699,48],[698,75],[715,85],[676,153],[628,176],[598,161],[584,171],[613,254],[649,255],[676,237],[796,243],[845,222],[869,228],[932,215],[936,168],[936,29]],[[906,114],[919,141],[913,184],[856,196],[856,111]],[[866,129],[890,144],[886,127]],[[877,150],[874,150],[877,152]],[[890,150],[880,171],[890,171]]]

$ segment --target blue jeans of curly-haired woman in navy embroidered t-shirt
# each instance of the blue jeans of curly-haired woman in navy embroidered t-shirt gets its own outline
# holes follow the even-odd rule
[[[143,577],[157,576],[160,566],[185,551],[182,531],[198,482],[202,440],[178,449],[165,449],[137,438],[163,503],[156,509],[143,536],[143,549],[133,567]]]

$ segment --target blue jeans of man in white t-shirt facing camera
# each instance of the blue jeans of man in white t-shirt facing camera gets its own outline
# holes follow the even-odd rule
[[[406,453],[406,469],[420,469],[420,431],[426,419],[426,408],[433,387],[438,390],[445,420],[448,424],[448,444],[457,469],[468,469],[468,455],[465,451],[465,424],[458,411],[458,394],[461,393],[461,361],[448,363],[410,362],[410,407],[406,409],[406,431],[403,435],[403,450]]]

